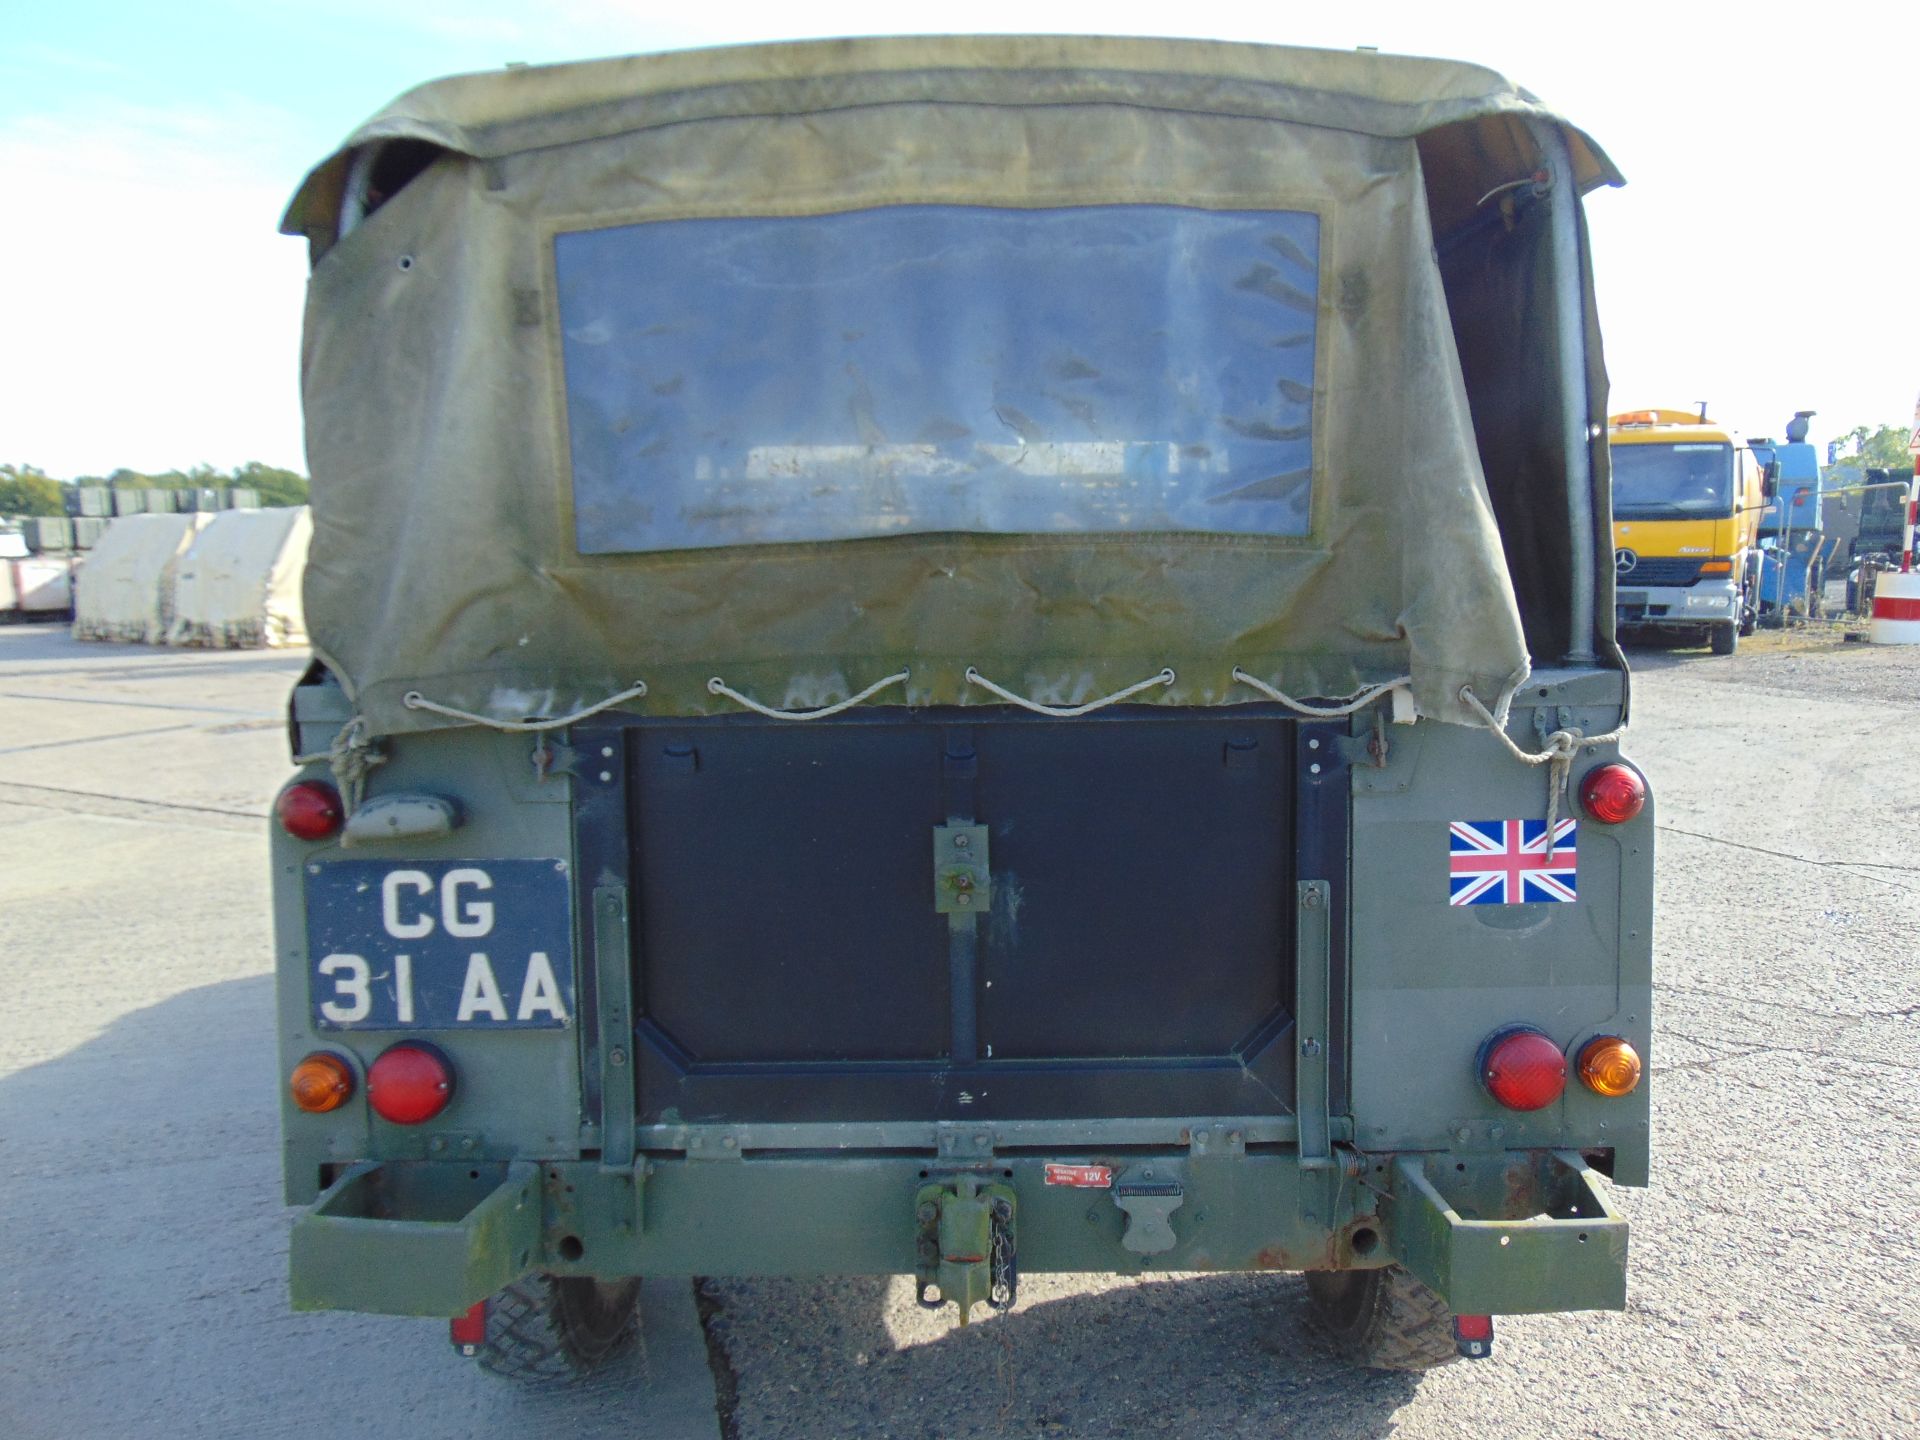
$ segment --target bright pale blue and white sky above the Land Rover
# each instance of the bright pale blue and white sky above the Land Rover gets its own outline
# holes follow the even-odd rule
[[[1912,6],[1836,2],[1776,19],[1640,0],[973,0],[922,8],[914,23],[902,13],[876,0],[6,0],[0,461],[63,476],[246,459],[305,468],[305,255],[275,225],[305,169],[419,81],[902,29],[1187,33],[1488,63],[1586,127],[1630,180],[1588,202],[1617,407],[1707,399],[1749,432],[1812,407],[1816,440],[1912,415]]]

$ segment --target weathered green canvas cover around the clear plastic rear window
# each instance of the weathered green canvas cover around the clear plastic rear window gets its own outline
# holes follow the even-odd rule
[[[1260,699],[1233,680],[1235,666],[1300,697],[1411,676],[1421,714],[1478,724],[1459,687],[1503,705],[1528,655],[1434,225],[1469,219],[1484,190],[1524,180],[1538,165],[1526,127],[1542,119],[1557,123],[1469,65],[1185,40],[810,42],[422,86],[315,169],[284,221],[315,255],[303,353],[315,651],[372,733],[447,724],[411,708],[409,693],[524,720],[645,682],[636,701],[645,712],[735,710],[708,689],[712,676],[785,708],[835,703],[899,670],[910,678],[876,703],[1000,703],[966,680],[970,666],[1054,705],[1162,668],[1175,682],[1135,703]],[[1619,180],[1586,136],[1567,136],[1582,188]],[[444,154],[342,236],[355,159],[396,140]],[[1428,194],[1428,171],[1446,173],[1444,194]],[[618,449],[630,422],[582,399],[584,346],[612,324],[614,359],[637,367],[651,307],[699,309],[699,296],[689,305],[695,280],[653,294],[649,276],[666,271],[634,269],[603,275],[580,300],[586,292],[568,292],[563,275],[572,250],[632,240],[632,253],[659,259],[668,252],[655,242],[684,236],[672,253],[710,267],[707,236],[732,244],[745,232],[728,228],[733,221],[793,221],[791,234],[812,244],[835,234],[833,217],[904,207],[933,207],[916,213],[933,227],[950,215],[956,228],[983,211],[1037,221],[1091,207],[1198,213],[1188,228],[1175,215],[1179,236],[1236,217],[1308,217],[1315,250],[1281,244],[1296,269],[1311,265],[1302,284],[1290,286],[1279,261],[1215,276],[1229,301],[1252,292],[1256,305],[1290,305],[1311,344],[1304,380],[1275,371],[1298,424],[1219,417],[1240,438],[1296,445],[1298,524],[1215,532],[1121,515],[1091,528],[868,528],[660,547],[630,543],[599,509],[576,513],[576,495],[607,482],[584,472],[599,465],[595,445]],[[660,228],[676,223],[718,228]],[[762,246],[755,263],[780,263],[789,250]],[[1096,290],[1102,257],[1087,250],[1085,259]],[[712,282],[710,271],[687,275]],[[595,303],[614,309],[601,315]],[[1194,323],[1165,309],[1140,330],[1152,344]],[[881,307],[876,324],[889,323]],[[1027,340],[1044,338],[1031,315],[1021,324]],[[1273,328],[1263,340],[1258,324],[1235,342],[1244,353],[1261,344],[1275,355],[1294,348],[1290,363],[1306,353],[1300,334]],[[808,336],[793,384],[831,401],[839,371],[820,361],[841,355],[852,334]],[[912,357],[912,336],[889,344],[895,359]],[[1206,336],[1183,344],[1208,349]],[[659,359],[659,348],[645,353]],[[1083,369],[1100,363],[1094,355]],[[708,369],[722,374],[716,361]],[[851,376],[852,361],[845,369]],[[607,384],[618,388],[609,374],[618,369],[601,376],[601,401]],[[676,401],[678,378],[643,384],[651,378],[636,369],[632,386],[647,392],[645,424],[666,436],[691,399]],[[718,384],[707,376],[703,403],[724,411]],[[810,436],[755,453],[812,457],[806,465],[839,457],[889,482],[904,465],[908,488],[925,490],[935,459],[958,453],[952,442],[876,428],[860,415],[860,384],[845,380],[839,444]],[[739,394],[741,428],[774,426],[776,390],[762,376]],[[977,422],[962,417],[954,428]],[[962,442],[975,468],[948,493],[972,503],[1002,484],[1008,444],[1031,442],[1020,453],[1054,457],[1060,474],[1081,463],[1060,457],[1108,453],[1100,445],[1129,457],[1164,449],[1173,459],[1154,463],[1179,465],[1183,436],[1033,426]],[[664,440],[659,453],[666,459],[649,472],[645,451],[620,451],[614,482],[668,493],[705,465]],[[1100,465],[1117,474],[1133,459]],[[781,501],[789,515],[795,495]],[[653,515],[645,499],[634,499],[634,515]],[[1565,513],[1563,493],[1542,505]]]

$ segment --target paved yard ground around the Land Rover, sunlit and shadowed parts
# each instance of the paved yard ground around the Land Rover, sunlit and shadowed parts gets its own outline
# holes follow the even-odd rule
[[[284,1300],[261,812],[303,664],[0,630],[0,1434],[1920,1434],[1920,651],[1636,651],[1655,1181],[1624,1313],[1344,1369],[1296,1277],[687,1286],[593,1384]]]

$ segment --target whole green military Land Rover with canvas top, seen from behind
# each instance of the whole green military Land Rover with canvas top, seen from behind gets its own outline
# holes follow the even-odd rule
[[[1482,69],[1104,38],[438,81],[286,217],[298,1308],[641,1284],[1620,1308],[1607,157]]]

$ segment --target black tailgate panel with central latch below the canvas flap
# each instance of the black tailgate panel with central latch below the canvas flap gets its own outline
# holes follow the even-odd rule
[[[1296,785],[1288,718],[1139,708],[582,732],[637,1121],[1290,1114],[1298,849],[1344,858],[1346,787]]]

